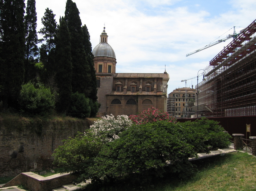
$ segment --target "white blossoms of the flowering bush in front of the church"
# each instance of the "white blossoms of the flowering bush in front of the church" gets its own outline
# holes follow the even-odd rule
[[[111,114],[95,121],[94,124],[90,126],[90,131],[93,136],[108,142],[119,138],[118,134],[131,125],[132,121],[127,115],[118,115],[117,118],[115,118],[115,116]],[[86,134],[87,132],[85,132],[85,135]]]

